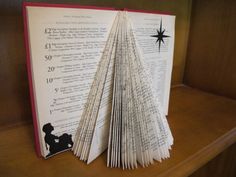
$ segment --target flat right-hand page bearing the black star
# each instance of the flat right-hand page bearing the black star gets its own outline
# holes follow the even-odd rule
[[[135,40],[158,100],[168,114],[175,16],[128,12]]]

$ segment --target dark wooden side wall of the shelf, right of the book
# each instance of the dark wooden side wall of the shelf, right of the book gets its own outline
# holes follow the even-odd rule
[[[192,7],[184,83],[236,99],[236,1]]]

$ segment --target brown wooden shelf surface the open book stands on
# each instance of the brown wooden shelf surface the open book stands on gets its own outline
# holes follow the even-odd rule
[[[1,176],[156,176],[183,177],[236,142],[236,101],[186,86],[171,90],[168,120],[174,136],[171,158],[136,170],[106,167],[106,153],[91,165],[71,152],[48,160],[34,151],[33,127],[0,131]]]

